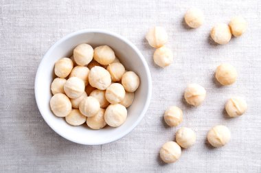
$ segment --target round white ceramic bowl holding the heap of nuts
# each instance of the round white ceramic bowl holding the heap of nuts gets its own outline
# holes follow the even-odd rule
[[[118,128],[106,126],[101,130],[91,130],[86,124],[84,126],[70,126],[65,122],[65,119],[56,117],[51,111],[49,101],[52,97],[50,85],[54,79],[54,63],[59,58],[70,57],[73,48],[81,43],[88,43],[93,47],[109,45],[126,69],[135,71],[140,78],[141,82],[135,92],[135,100],[128,108],[126,122]],[[105,30],[80,30],[60,39],[41,60],[34,84],[36,103],[45,122],[65,139],[85,145],[109,143],[131,132],[139,124],[148,109],[151,88],[150,70],[137,47],[127,41],[126,38]]]

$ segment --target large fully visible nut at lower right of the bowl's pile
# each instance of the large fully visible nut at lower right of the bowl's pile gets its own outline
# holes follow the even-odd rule
[[[111,127],[124,124],[127,118],[127,109],[122,104],[110,104],[104,113],[105,122]]]

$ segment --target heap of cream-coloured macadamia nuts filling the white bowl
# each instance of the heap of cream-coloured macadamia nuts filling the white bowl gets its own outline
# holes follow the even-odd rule
[[[72,126],[87,123],[92,129],[124,124],[127,109],[139,87],[139,76],[126,71],[111,47],[78,45],[71,58],[54,65],[50,106]]]

